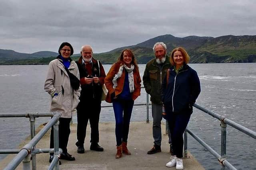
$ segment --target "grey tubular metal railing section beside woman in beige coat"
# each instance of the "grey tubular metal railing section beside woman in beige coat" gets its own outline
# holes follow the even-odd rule
[[[48,170],[59,170],[59,158],[62,150],[59,149],[59,135],[58,125],[60,113],[0,113],[0,117],[29,117],[30,120],[30,136],[31,141],[26,144],[22,149],[6,149],[0,150],[0,154],[13,154],[17,155],[10,161],[4,170],[14,170],[22,162],[23,170],[31,170],[30,158],[32,158],[32,170],[36,170],[36,154],[39,153],[54,153],[54,158]],[[36,117],[52,117],[52,119],[43,127],[37,134],[35,131]],[[36,149],[36,144],[42,139],[47,131],[54,127],[54,149]]]

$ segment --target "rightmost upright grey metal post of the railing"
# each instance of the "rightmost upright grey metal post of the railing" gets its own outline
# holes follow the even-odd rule
[[[220,126],[221,126],[221,149],[220,149],[220,156],[221,158],[226,158],[226,134],[227,134],[227,124],[224,123],[224,119],[226,117],[220,117]],[[225,169],[225,166],[222,165],[222,170]]]

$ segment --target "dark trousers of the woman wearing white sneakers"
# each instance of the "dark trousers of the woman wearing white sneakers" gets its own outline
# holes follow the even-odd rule
[[[168,120],[169,129],[172,138],[172,149],[174,155],[178,158],[183,157],[183,133],[188,125],[190,119],[190,114],[170,114],[170,119]]]

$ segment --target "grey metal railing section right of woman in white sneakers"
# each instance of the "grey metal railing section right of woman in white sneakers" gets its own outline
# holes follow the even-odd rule
[[[206,150],[208,150],[215,158],[218,159],[218,161],[221,164],[221,169],[224,169],[226,166],[230,170],[236,170],[232,164],[226,160],[226,128],[227,124],[234,127],[235,129],[241,131],[242,133],[245,133],[246,135],[249,135],[250,137],[253,137],[256,139],[256,132],[222,116],[218,115],[217,113],[214,113],[213,111],[210,111],[209,109],[206,109],[202,106],[199,106],[198,104],[194,104],[194,107],[197,109],[204,111],[208,115],[211,115],[212,117],[220,120],[220,126],[221,126],[221,149],[220,154],[218,154],[214,149],[212,149],[209,145],[207,145],[202,139],[200,139],[197,135],[195,135],[190,129],[186,128],[186,131],[184,132],[184,157],[188,157],[188,145],[187,145],[187,133],[189,133],[198,143],[200,143]]]

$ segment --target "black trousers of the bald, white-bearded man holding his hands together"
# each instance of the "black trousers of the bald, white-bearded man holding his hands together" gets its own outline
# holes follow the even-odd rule
[[[90,143],[99,142],[99,119],[101,110],[101,101],[91,100],[86,103],[79,103],[77,109],[77,140],[76,145],[83,146],[86,136],[86,127],[90,121],[91,140]]]

